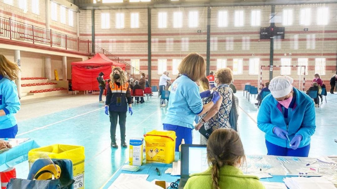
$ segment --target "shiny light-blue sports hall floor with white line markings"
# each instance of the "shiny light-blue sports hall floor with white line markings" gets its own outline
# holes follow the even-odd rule
[[[257,107],[253,98],[248,102],[238,91],[239,132],[246,154],[266,154],[264,134],[256,126]],[[328,94],[325,102],[316,108],[316,132],[312,137],[310,157],[337,154],[336,107],[337,95]],[[41,110],[43,111],[43,110]],[[142,137],[153,129],[162,129],[161,120],[166,108],[159,107],[159,100],[152,98],[144,104],[133,105],[133,115],[127,117],[126,138]],[[85,187],[96,189],[103,186],[128,158],[128,149],[110,148],[109,116],[102,104],[93,103],[24,121],[18,120],[18,138],[34,139],[40,146],[71,144],[85,147]],[[119,129],[117,129],[117,139]],[[200,135],[194,131],[193,143],[198,144]],[[17,166],[18,178],[28,175],[28,162]]]

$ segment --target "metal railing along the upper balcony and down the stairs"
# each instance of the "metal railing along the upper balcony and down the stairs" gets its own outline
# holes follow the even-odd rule
[[[141,73],[143,73],[89,40],[14,21],[11,18],[0,16],[0,37],[28,41],[33,44],[39,43],[50,47],[61,47],[66,50],[84,52],[91,55],[101,53],[112,61],[125,64],[125,71],[129,77],[139,80]]]

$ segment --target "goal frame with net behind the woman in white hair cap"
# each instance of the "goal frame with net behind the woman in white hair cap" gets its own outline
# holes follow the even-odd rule
[[[261,65],[258,75],[258,86],[262,88],[266,82],[269,82],[269,73],[273,72],[273,78],[276,76],[287,75],[294,79],[293,86],[299,90],[305,89],[305,75],[307,74],[307,66],[270,66]]]

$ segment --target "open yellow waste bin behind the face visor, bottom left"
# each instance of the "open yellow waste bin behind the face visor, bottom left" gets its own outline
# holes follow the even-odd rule
[[[31,165],[38,154],[46,154],[51,159],[70,159],[73,164],[74,189],[84,189],[84,147],[64,144],[54,144],[32,149],[28,152],[28,161]]]

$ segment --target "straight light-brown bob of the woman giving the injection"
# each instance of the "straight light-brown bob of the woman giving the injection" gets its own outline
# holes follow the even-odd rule
[[[198,81],[205,77],[206,63],[202,55],[192,52],[185,56],[178,66],[181,74],[186,74],[193,81]]]

